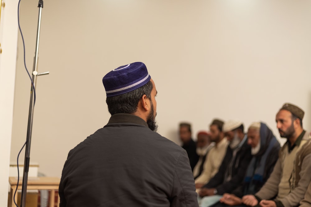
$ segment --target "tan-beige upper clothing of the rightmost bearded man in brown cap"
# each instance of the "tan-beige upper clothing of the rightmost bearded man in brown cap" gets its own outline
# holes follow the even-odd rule
[[[276,197],[277,206],[298,206],[310,182],[311,173],[311,139],[308,133],[289,153],[285,143],[280,150],[279,159],[265,185],[255,196],[259,200]]]

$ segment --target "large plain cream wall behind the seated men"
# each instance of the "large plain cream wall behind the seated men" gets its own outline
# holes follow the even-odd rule
[[[37,1],[21,3],[32,68]],[[311,124],[311,1],[45,1],[30,160],[61,176],[70,149],[109,120],[102,77],[143,61],[156,83],[159,133],[177,143],[214,117],[266,122],[279,138],[286,101]],[[11,160],[26,139],[30,82],[18,42]],[[283,143],[284,140],[282,139]]]

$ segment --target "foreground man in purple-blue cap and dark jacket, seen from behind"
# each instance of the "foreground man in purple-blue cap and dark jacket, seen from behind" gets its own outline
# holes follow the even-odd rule
[[[198,206],[185,150],[156,133],[156,86],[146,65],[103,78],[109,122],[73,148],[59,185],[65,206]]]

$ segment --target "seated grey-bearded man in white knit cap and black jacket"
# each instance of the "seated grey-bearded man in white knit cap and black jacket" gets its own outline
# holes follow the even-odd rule
[[[247,135],[244,134],[244,125],[241,121],[225,122],[223,132],[229,141],[229,146],[218,172],[199,191],[198,201],[202,207],[215,204],[224,193],[231,193],[238,187],[252,159],[251,146],[247,144]]]

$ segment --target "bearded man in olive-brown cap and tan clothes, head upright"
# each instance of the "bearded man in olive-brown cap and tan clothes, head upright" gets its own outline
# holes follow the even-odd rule
[[[242,198],[245,205],[290,207],[299,205],[304,198],[310,183],[311,139],[302,128],[303,117],[304,111],[290,103],[285,103],[276,114],[276,126],[287,142],[265,185],[255,195]]]

